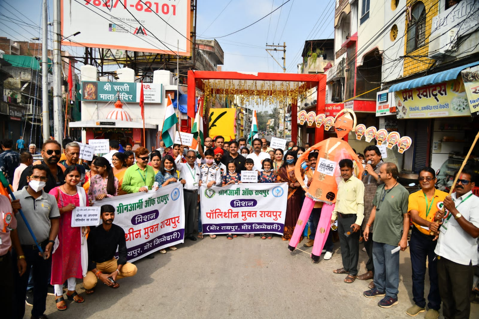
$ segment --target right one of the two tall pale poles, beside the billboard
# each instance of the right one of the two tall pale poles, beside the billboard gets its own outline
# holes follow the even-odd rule
[[[63,70],[61,63],[60,0],[53,1],[53,133],[55,140],[61,143],[62,130],[60,120],[62,107]]]

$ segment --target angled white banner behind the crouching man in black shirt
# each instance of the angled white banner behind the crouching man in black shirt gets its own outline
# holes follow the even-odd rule
[[[158,191],[104,198],[94,206],[113,205],[114,224],[125,230],[127,259],[184,242],[183,187],[176,182]]]

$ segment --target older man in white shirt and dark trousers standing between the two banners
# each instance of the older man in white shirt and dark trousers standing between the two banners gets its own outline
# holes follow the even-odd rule
[[[180,163],[180,157],[176,159],[176,167],[180,171],[180,179],[183,179],[184,200],[184,238],[196,240],[193,236],[194,220],[196,218],[196,205],[200,202],[198,186],[201,179],[201,171],[196,164],[196,152],[190,149],[186,153],[186,163]]]

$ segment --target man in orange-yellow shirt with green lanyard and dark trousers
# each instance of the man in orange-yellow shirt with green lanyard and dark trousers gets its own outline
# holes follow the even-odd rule
[[[409,195],[408,212],[414,224],[409,242],[412,268],[412,300],[414,305],[406,313],[410,316],[424,312],[426,300],[424,299],[424,277],[426,275],[426,259],[429,269],[429,295],[425,318],[436,319],[441,308],[441,297],[437,279],[437,260],[434,254],[436,241],[430,232],[436,232],[439,224],[434,221],[437,204],[444,201],[447,193],[435,189],[437,182],[434,170],[424,167],[419,172],[419,185],[421,190]]]

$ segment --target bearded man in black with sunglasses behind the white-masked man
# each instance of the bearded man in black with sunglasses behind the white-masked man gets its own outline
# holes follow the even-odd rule
[[[63,165],[58,165],[61,156],[60,143],[53,139],[47,139],[43,143],[41,154],[43,160],[34,162],[34,165],[44,164],[48,167],[46,174],[47,180],[45,187],[43,188],[43,190],[48,193],[53,188],[65,183],[65,176],[63,175],[65,167]],[[18,189],[22,189],[28,185],[27,176],[29,176],[28,169],[25,169],[20,176]]]

